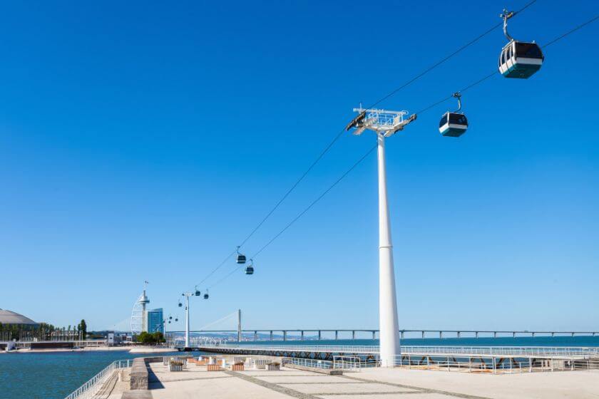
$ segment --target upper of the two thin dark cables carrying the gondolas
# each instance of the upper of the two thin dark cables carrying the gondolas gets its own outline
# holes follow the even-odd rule
[[[521,9],[519,9],[518,11],[515,11],[514,12],[514,16],[516,16],[517,14],[519,14],[522,11],[524,11],[525,9],[527,9],[529,6],[531,6],[534,3],[536,3],[536,1],[537,0],[529,1]],[[399,86],[399,88],[395,88],[390,93],[387,93],[382,98],[379,98],[379,100],[375,101],[374,103],[372,103],[371,105],[369,105],[367,108],[374,108],[376,105],[378,105],[379,103],[382,103],[384,100],[386,100],[388,98],[391,98],[396,93],[399,93],[400,90],[402,90],[402,89],[406,88],[407,86],[411,85],[411,83],[414,83],[419,78],[425,76],[427,73],[429,73],[430,71],[434,70],[435,68],[437,68],[438,66],[440,66],[445,61],[448,61],[450,58],[456,56],[461,51],[464,51],[466,48],[468,48],[469,46],[473,45],[474,43],[476,43],[477,41],[479,41],[481,38],[483,38],[484,36],[488,35],[488,33],[491,33],[491,31],[493,31],[494,29],[496,29],[496,28],[498,28],[499,26],[502,26],[502,25],[503,25],[503,22],[500,22],[500,23],[492,26],[488,30],[486,30],[483,33],[481,33],[480,35],[476,36],[476,38],[473,38],[471,41],[469,41],[468,43],[464,44],[464,46],[461,46],[456,51],[454,51],[453,53],[449,54],[449,56],[446,56],[446,57],[442,58],[440,61],[437,61],[433,65],[429,66],[429,68],[426,68],[424,71],[422,71],[418,75],[414,76],[414,78],[411,78],[409,81],[406,81],[406,83],[404,83],[403,85]],[[257,232],[258,229],[260,229],[260,227],[262,227],[262,224],[264,224],[267,221],[267,219],[269,219],[270,216],[278,209],[278,207],[280,207],[280,204],[282,204],[282,202],[284,202],[285,199],[287,199],[287,197],[289,197],[289,195],[293,192],[293,190],[295,190],[295,188],[299,185],[299,183],[302,182],[302,180],[304,180],[304,178],[309,174],[310,171],[312,171],[312,169],[314,168],[314,166],[316,166],[317,163],[320,162],[320,160],[322,160],[322,157],[324,157],[324,155],[326,155],[327,152],[329,152],[329,150],[334,145],[334,143],[337,142],[337,140],[339,140],[339,138],[342,137],[344,131],[345,131],[344,128],[342,130],[340,130],[339,133],[337,133],[337,135],[335,135],[335,137],[333,138],[333,140],[331,142],[329,142],[329,144],[327,145],[327,147],[324,147],[324,150],[322,150],[322,152],[320,152],[320,154],[318,155],[318,157],[316,158],[316,160],[314,160],[314,162],[312,162],[312,164],[309,165],[309,167],[307,168],[307,170],[305,170],[305,172],[299,177],[299,179],[296,180],[296,182],[290,187],[290,189],[287,190],[287,192],[285,192],[285,194],[279,199],[279,201],[275,204],[275,206],[272,207],[272,209],[270,209],[270,211],[266,214],[266,216],[263,217],[262,220],[260,220],[260,223],[258,223],[257,226],[254,227],[254,229],[252,229],[252,231],[250,232],[250,234],[247,234],[247,237],[245,237],[245,239],[243,239],[243,241],[241,242],[240,247],[243,247],[245,245],[245,243],[255,234],[255,232]],[[235,252],[233,252],[233,254],[234,253]],[[229,255],[229,257],[231,255]],[[228,257],[227,257],[227,259],[228,259]],[[213,271],[211,271],[210,274],[208,274],[208,276],[206,276],[203,279],[203,281],[200,281],[200,283],[198,285],[202,284],[205,280],[207,280],[210,276],[212,276],[215,273],[215,271],[217,271],[218,269],[220,269],[225,264],[225,262],[226,262],[227,259],[225,259],[225,261],[223,261],[222,264],[220,264]]]

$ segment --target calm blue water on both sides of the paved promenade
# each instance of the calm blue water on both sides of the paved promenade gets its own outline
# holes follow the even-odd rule
[[[270,342],[245,342],[268,344]],[[277,345],[297,345],[300,341],[273,341]],[[368,339],[304,341],[305,345],[377,345]],[[599,336],[535,338],[406,338],[402,345],[464,346],[599,346]],[[197,355],[197,353],[195,353]],[[157,356],[161,356],[159,353]],[[127,351],[6,353],[0,355],[0,399],[63,399],[109,363],[140,356]]]

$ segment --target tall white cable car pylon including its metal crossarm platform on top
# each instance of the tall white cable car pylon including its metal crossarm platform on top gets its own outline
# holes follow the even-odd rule
[[[416,119],[411,115],[404,119],[407,111],[389,111],[354,108],[358,115],[347,125],[346,130],[356,128],[354,135],[364,130],[377,133],[377,154],[379,169],[379,348],[382,367],[393,367],[396,356],[401,354],[399,346],[399,322],[395,293],[395,271],[393,264],[393,244],[386,191],[385,138]]]

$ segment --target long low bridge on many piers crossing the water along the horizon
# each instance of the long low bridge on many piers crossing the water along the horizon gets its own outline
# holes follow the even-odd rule
[[[168,331],[168,333],[185,333],[185,331]],[[364,339],[364,333],[372,339],[376,339],[379,330],[370,328],[345,328],[345,329],[319,329],[319,328],[276,328],[276,329],[246,329],[246,330],[196,330],[190,333],[197,334],[237,334],[238,338],[242,336],[253,336],[253,341],[259,341],[260,335],[266,335],[270,341],[275,341],[275,333],[282,336],[282,341],[287,341],[291,334],[295,333],[300,341],[307,338],[307,333],[313,333],[314,337],[322,340],[325,333],[334,335],[335,340],[339,339]],[[356,338],[357,333],[362,333],[362,338]],[[399,330],[401,338],[410,335],[410,338],[498,338],[498,337],[535,337],[535,336],[599,336],[599,331],[528,331],[528,330]],[[342,338],[339,336],[342,335]],[[347,338],[345,338],[347,337]]]

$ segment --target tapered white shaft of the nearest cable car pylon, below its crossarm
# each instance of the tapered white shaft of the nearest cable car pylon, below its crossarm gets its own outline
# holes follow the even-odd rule
[[[381,366],[393,367],[401,351],[395,294],[393,244],[386,192],[385,138],[377,133],[379,155],[379,345]]]

